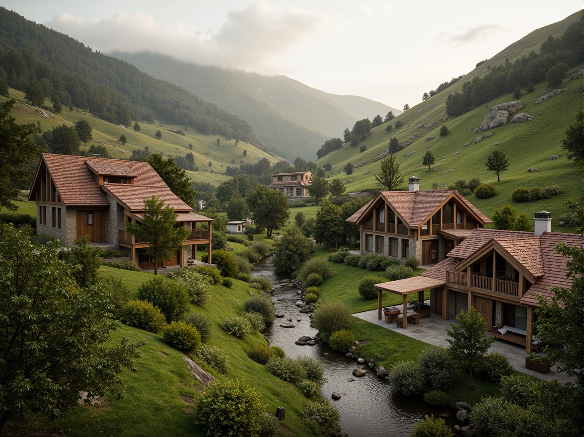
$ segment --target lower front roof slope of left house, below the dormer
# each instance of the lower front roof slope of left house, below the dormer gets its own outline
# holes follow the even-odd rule
[[[193,209],[175,195],[168,186],[127,185],[124,183],[103,183],[102,188],[117,202],[130,211],[144,211],[144,199],[157,196],[176,212],[188,212]]]

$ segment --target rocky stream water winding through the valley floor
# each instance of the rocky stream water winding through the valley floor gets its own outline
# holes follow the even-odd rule
[[[308,314],[298,313],[300,308],[296,306],[296,301],[300,296],[296,287],[280,285],[281,279],[290,277],[274,272],[271,257],[256,263],[253,274],[270,279],[274,289],[274,310],[284,314],[284,318],[276,318],[273,325],[264,331],[270,345],[280,346],[287,356],[312,355],[322,363],[328,380],[322,387],[322,396],[331,399],[334,391],[340,393],[340,400],[331,402],[340,412],[343,432],[350,437],[409,436],[413,425],[426,414],[438,417],[444,412],[428,407],[419,399],[395,395],[387,381],[379,379],[373,371],[368,372],[365,377],[354,377],[352,372],[357,368],[357,362],[333,351],[328,345],[294,344],[303,335],[317,335],[317,330],[310,326]],[[295,328],[280,327],[280,323],[287,322],[288,318],[292,319]]]

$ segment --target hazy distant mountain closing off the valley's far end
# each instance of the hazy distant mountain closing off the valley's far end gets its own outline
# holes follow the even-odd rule
[[[298,155],[314,160],[324,141],[342,136],[358,119],[385,116],[390,110],[401,113],[363,97],[318,91],[286,76],[203,67],[155,53],[112,55],[241,117],[270,151],[290,161]]]

